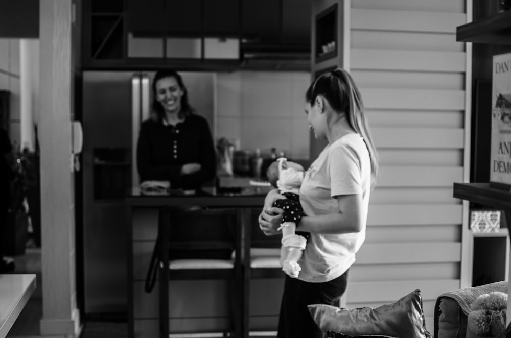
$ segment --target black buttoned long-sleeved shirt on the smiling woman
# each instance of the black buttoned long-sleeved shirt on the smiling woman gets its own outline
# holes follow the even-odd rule
[[[154,120],[142,123],[136,164],[141,182],[170,181],[172,189],[198,188],[216,174],[216,153],[207,120],[191,114],[176,126]],[[181,175],[187,163],[199,163],[199,172]]]

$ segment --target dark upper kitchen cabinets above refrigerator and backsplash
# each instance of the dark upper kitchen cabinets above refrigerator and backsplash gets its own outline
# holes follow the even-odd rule
[[[237,68],[310,56],[311,0],[92,0],[84,68]]]

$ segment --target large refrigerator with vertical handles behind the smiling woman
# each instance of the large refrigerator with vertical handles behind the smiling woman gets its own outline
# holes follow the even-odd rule
[[[151,111],[153,71],[83,72],[83,307],[86,315],[127,311],[124,197],[140,184],[138,129]],[[216,74],[180,72],[189,102],[215,126]],[[214,135],[215,137],[215,135]]]

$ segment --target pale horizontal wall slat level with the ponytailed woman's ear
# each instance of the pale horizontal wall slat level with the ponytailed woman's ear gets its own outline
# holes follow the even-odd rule
[[[361,88],[367,109],[463,110],[463,90]]]

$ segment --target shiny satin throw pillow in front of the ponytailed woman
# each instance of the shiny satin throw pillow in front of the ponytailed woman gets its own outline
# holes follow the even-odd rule
[[[312,318],[321,331],[343,334],[431,338],[426,330],[421,291],[415,290],[395,303],[377,308],[344,309],[326,304],[309,305]]]

